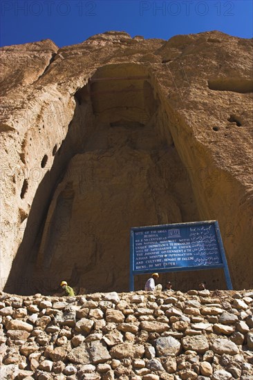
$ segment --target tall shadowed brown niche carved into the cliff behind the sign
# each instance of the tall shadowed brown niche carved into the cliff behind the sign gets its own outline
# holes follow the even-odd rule
[[[130,228],[199,220],[172,116],[147,68],[103,66],[75,101],[68,134],[53,151],[60,173],[30,243],[28,293],[55,294],[63,279],[79,294],[128,291]],[[189,273],[170,279],[187,289]],[[143,286],[137,276],[135,289]]]

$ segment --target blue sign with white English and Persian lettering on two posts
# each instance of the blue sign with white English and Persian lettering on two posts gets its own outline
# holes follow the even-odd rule
[[[130,289],[133,276],[150,272],[223,268],[232,283],[217,221],[131,228]]]

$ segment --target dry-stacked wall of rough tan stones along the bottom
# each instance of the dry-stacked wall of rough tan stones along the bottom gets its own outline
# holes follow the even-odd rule
[[[1,380],[250,380],[253,292],[1,294]]]

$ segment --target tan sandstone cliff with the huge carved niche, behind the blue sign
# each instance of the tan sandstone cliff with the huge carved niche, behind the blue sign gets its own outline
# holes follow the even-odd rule
[[[126,291],[130,227],[218,220],[233,285],[250,287],[251,57],[221,32],[1,48],[1,286]]]

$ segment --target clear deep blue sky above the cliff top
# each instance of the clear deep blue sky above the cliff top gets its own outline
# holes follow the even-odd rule
[[[1,0],[0,46],[52,39],[79,44],[107,30],[144,38],[221,30],[252,38],[252,0]]]

